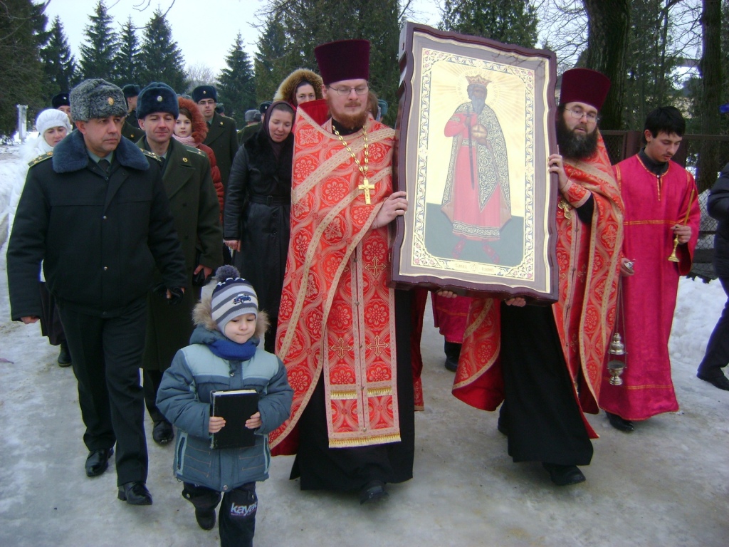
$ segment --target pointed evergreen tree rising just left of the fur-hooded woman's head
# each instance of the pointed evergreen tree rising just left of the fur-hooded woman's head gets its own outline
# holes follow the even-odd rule
[[[258,40],[254,60],[258,103],[270,101],[281,81],[302,64],[306,68],[316,69],[315,63],[300,63],[295,53],[281,21],[270,15]]]

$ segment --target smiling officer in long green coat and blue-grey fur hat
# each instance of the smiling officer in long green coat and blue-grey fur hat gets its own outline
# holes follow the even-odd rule
[[[137,112],[145,133],[137,144],[164,158],[162,182],[182,244],[187,286],[192,287],[192,276],[203,273],[207,279],[222,264],[220,206],[210,161],[205,152],[172,138],[179,105],[168,85],[152,82],[141,90]],[[177,350],[190,344],[192,308],[199,296],[199,291],[188,290],[179,306],[174,307],[165,303],[164,295],[149,292],[147,296],[147,342],[142,360],[144,399],[155,422],[152,438],[158,444],[171,441],[174,432],[155,405],[157,389]]]

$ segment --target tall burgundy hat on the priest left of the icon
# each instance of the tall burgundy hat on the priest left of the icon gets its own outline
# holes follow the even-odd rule
[[[339,40],[321,44],[314,50],[324,85],[344,79],[370,79],[370,42]]]

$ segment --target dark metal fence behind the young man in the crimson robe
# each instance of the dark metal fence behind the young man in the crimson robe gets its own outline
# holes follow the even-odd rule
[[[642,147],[641,131],[601,131],[605,147],[613,165],[625,158],[630,158]],[[722,167],[729,163],[729,136],[726,135],[684,135],[681,146],[674,155],[674,161],[693,171],[698,158],[701,141],[717,141],[719,153],[717,163],[712,168],[717,174]],[[699,277],[705,282],[717,279],[712,266],[714,257],[714,233],[717,230],[717,221],[706,212],[706,201],[709,199],[709,190],[704,190],[698,196],[698,206],[701,209],[701,222],[699,224],[698,243],[693,255],[693,268],[690,277]]]

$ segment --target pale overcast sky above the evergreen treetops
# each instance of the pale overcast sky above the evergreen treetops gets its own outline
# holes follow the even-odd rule
[[[106,0],[105,4],[118,30],[129,15],[137,26],[144,26],[157,7],[165,12],[172,1]],[[185,63],[203,63],[217,74],[225,66],[225,56],[233,47],[238,32],[243,36],[243,49],[252,58],[260,34],[256,26],[261,22],[256,15],[265,4],[262,0],[174,0],[167,19]],[[434,4],[437,4],[436,0],[413,0],[413,20],[435,26],[440,17]],[[84,29],[90,23],[89,15],[95,5],[95,0],[50,0],[46,8],[49,26],[56,15],[61,17],[77,61],[79,46],[84,42]],[[138,36],[141,40],[141,29]]]

